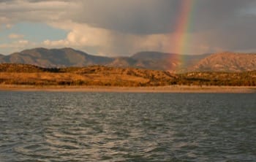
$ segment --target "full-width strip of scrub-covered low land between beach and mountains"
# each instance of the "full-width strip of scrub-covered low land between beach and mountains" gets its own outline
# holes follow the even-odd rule
[[[42,68],[33,65],[0,64],[2,85],[100,85],[100,86],[159,86],[159,85],[237,85],[256,86],[256,71],[252,72],[187,72],[86,66]]]

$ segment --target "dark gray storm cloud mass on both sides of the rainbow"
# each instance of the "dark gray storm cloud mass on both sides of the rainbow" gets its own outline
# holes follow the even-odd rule
[[[72,14],[78,23],[128,34],[168,34],[175,32],[180,9],[189,0],[94,0],[84,1]],[[189,32],[198,44],[223,50],[255,48],[256,16],[246,9],[256,7],[253,0],[195,0]]]

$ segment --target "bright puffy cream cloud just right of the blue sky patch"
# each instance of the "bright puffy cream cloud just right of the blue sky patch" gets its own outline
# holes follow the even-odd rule
[[[123,34],[118,31],[110,31],[104,28],[94,28],[87,24],[63,22],[54,23],[52,26],[62,26],[69,33],[65,39],[45,40],[42,45],[47,47],[78,47],[86,50],[94,49],[101,55],[127,55],[137,52],[139,48],[146,50],[152,45],[151,36],[137,36],[134,34]],[[154,36],[153,36],[154,37]],[[162,36],[158,37],[158,41]],[[161,38],[162,39],[162,38]],[[154,47],[159,43],[153,43]],[[125,47],[124,47],[125,45]],[[124,51],[126,51],[124,53]]]

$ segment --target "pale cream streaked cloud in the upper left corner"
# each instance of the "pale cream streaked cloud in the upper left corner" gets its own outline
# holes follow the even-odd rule
[[[76,4],[69,1],[0,1],[0,20],[5,23],[63,20],[73,5]]]

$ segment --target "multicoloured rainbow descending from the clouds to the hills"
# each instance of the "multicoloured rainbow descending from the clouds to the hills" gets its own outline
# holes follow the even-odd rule
[[[196,0],[181,0],[178,17],[176,18],[176,26],[173,34],[173,48],[171,53],[179,54],[176,57],[176,60],[184,63],[184,54],[187,54],[187,46],[189,44],[189,34],[188,31],[192,27],[192,16],[193,11],[195,10]],[[182,66],[178,66],[178,69],[181,69]],[[178,70],[176,69],[176,70]]]

